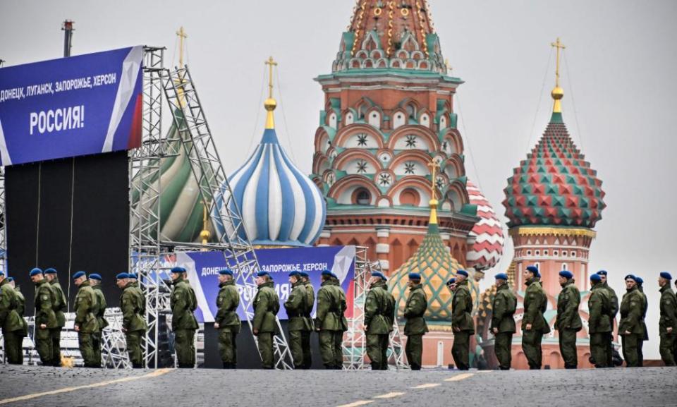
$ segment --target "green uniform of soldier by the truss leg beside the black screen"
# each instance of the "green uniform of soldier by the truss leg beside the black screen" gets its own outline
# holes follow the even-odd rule
[[[143,353],[141,351],[141,338],[145,334],[147,325],[144,320],[145,298],[141,291],[133,283],[128,283],[120,296],[120,309],[122,310],[122,328],[127,342],[127,353],[132,367],[143,367]]]

